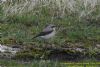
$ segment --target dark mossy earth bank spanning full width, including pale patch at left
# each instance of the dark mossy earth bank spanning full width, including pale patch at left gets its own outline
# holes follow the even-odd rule
[[[13,51],[11,50],[13,48]],[[14,52],[16,49],[19,49]],[[10,51],[11,50],[11,51]],[[95,47],[95,50],[90,51],[88,48],[84,47],[35,47],[31,46],[19,46],[14,45],[10,47],[10,50],[7,49],[6,52],[0,52],[0,58],[4,59],[14,59],[14,60],[23,60],[31,61],[36,60],[59,60],[59,61],[82,61],[84,59],[95,59],[100,61],[100,49]],[[9,51],[9,52],[8,52]]]

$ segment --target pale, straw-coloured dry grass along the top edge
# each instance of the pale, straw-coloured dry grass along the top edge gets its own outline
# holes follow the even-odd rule
[[[47,6],[61,17],[67,13],[77,13],[79,18],[95,12],[99,4],[100,0],[9,0],[2,3],[6,16],[26,12],[36,13]]]

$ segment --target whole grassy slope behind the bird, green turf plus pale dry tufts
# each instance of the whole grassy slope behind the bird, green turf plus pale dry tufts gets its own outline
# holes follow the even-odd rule
[[[100,1],[50,0],[34,3],[30,0],[0,3],[0,44],[82,46],[87,49],[89,57],[100,53],[100,49],[94,49],[100,43]],[[59,31],[49,40],[50,44],[32,39],[51,23],[57,25]]]

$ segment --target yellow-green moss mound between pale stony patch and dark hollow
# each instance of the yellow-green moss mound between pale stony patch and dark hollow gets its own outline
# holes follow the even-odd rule
[[[38,49],[22,50],[16,54],[15,59],[23,59],[23,60],[25,60],[25,59],[30,59],[30,60],[41,59],[41,57],[42,58],[46,57],[46,54],[43,57],[44,54],[45,54],[44,50],[38,50]]]

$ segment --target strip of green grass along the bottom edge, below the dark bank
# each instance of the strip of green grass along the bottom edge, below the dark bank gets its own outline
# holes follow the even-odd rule
[[[49,60],[34,60],[31,62],[0,60],[0,66],[7,67],[99,67],[98,62],[58,62]]]

